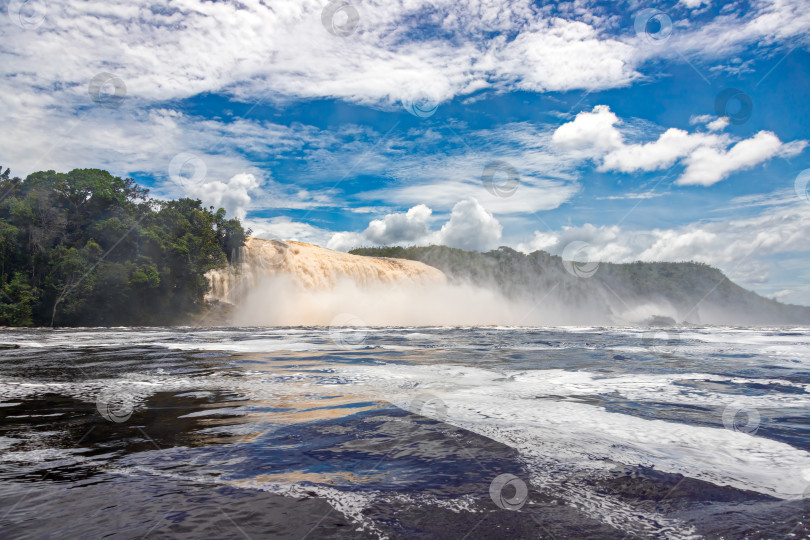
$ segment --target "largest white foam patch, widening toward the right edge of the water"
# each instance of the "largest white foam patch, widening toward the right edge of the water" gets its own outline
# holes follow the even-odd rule
[[[700,373],[604,378],[587,372],[495,372],[463,366],[341,366],[336,370],[347,380],[377,385],[381,395],[406,409],[410,398],[398,389],[427,392],[446,405],[447,417],[439,419],[515,447],[524,455],[542,455],[571,468],[599,469],[604,462],[645,465],[783,499],[801,498],[807,487],[802,471],[810,467],[810,453],[788,444],[724,428],[609,412],[560,398],[618,393],[641,406],[654,401],[720,409],[732,404],[806,409],[808,394],[727,395],[675,385],[687,380],[732,380]],[[431,416],[430,410],[423,412]]]

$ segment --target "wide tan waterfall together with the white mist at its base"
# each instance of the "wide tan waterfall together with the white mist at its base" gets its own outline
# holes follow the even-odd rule
[[[597,324],[552,301],[506,298],[416,261],[361,257],[251,238],[234,265],[208,273],[208,301],[239,326]]]

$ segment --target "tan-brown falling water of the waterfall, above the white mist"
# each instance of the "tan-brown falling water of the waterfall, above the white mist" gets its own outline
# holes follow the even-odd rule
[[[248,238],[235,264],[206,274],[209,302],[238,303],[267,278],[284,277],[309,291],[344,281],[364,288],[395,284],[444,284],[444,274],[417,261],[364,257],[301,242]]]

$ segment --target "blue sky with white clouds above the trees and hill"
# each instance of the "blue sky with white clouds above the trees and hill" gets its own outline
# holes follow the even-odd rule
[[[698,260],[810,305],[806,0],[12,0],[0,163],[254,234]]]

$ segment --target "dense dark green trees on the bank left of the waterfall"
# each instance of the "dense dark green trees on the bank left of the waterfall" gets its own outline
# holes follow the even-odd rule
[[[199,200],[158,201],[98,169],[0,168],[0,325],[170,324],[250,231]]]

